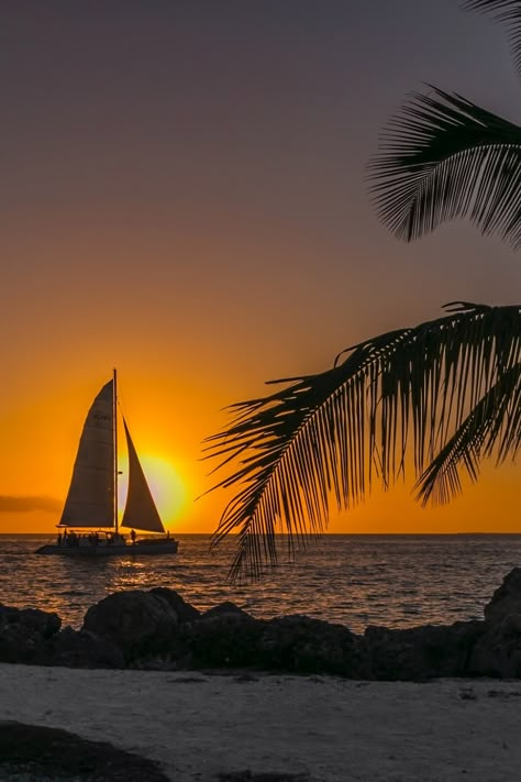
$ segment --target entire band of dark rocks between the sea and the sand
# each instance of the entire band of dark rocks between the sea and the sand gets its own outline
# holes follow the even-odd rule
[[[307,616],[256,619],[232,603],[200,613],[166,587],[119,592],[91,606],[79,630],[55,613],[0,604],[0,662],[133,670],[278,671],[355,680],[521,678],[521,568],[483,620],[356,635]]]

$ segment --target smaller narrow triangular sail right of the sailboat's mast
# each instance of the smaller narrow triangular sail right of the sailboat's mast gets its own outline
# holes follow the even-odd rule
[[[121,526],[145,532],[165,532],[124,418],[123,426],[129,451],[129,491]]]

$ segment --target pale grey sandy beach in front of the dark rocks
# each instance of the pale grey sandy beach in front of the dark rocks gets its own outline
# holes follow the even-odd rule
[[[0,720],[157,761],[174,782],[251,771],[310,782],[511,782],[520,681],[364,682],[248,672],[0,664]]]

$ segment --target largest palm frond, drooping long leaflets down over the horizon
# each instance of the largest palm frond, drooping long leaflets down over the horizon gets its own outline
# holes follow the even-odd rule
[[[213,543],[239,531],[231,579],[277,562],[276,532],[290,547],[322,531],[330,504],[348,508],[375,478],[390,485],[411,443],[421,474],[481,397],[521,356],[519,307],[455,302],[437,320],[381,334],[342,352],[315,375],[231,407],[234,419],[207,439],[208,455],[235,487]]]

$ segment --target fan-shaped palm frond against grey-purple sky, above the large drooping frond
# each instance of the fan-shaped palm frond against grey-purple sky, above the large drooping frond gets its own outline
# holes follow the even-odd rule
[[[521,243],[521,128],[434,87],[384,132],[368,177],[383,222],[406,241],[468,216]]]

